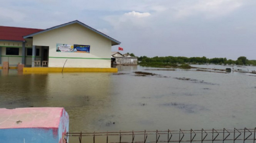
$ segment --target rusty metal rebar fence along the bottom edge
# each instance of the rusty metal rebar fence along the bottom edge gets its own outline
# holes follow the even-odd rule
[[[165,130],[132,132],[93,132],[67,133],[65,140],[72,138],[75,143],[254,143],[256,128],[221,129],[221,130]]]

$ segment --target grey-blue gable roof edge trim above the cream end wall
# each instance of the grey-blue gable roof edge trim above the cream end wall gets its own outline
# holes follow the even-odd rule
[[[78,20],[71,21],[69,23],[64,23],[64,24],[61,24],[61,25],[58,25],[58,26],[54,26],[52,28],[48,28],[48,29],[45,29],[43,31],[38,31],[38,32],[35,32],[33,34],[29,34],[27,36],[23,36],[23,38],[25,39],[25,38],[28,38],[28,37],[32,37],[32,36],[35,36],[37,34],[44,33],[44,32],[47,32],[47,31],[50,31],[50,30],[53,30],[53,29],[61,28],[61,27],[64,27],[64,26],[67,26],[67,25],[70,25],[70,24],[74,24],[74,23],[80,24],[80,25],[84,26],[85,28],[88,28],[88,29],[94,31],[95,33],[98,33],[101,36],[106,37],[107,39],[111,40],[112,41],[112,46],[121,44],[121,42],[115,40],[114,38],[111,38],[111,37],[107,36],[106,34],[101,33],[100,31],[97,31],[96,29],[94,29],[94,28],[92,28],[92,27],[90,27],[90,26],[88,26],[88,25],[86,25],[86,24],[84,24],[84,23],[82,23],[82,22],[80,22]]]

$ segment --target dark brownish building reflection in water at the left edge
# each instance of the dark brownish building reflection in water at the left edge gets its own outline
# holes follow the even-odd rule
[[[8,75],[8,76],[6,76]],[[46,106],[47,75],[22,75],[17,70],[1,71],[0,105],[3,108]],[[11,97],[11,98],[10,98]],[[5,102],[4,102],[5,101]]]

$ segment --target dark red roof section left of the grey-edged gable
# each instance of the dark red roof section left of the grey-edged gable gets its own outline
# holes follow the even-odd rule
[[[25,41],[23,36],[43,30],[44,29],[0,26],[0,40]]]

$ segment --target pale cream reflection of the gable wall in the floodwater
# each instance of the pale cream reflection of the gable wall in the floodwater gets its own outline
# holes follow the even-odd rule
[[[113,84],[112,73],[50,73],[47,80],[47,104],[64,107],[70,117],[70,131],[88,129],[100,115],[109,112]]]

